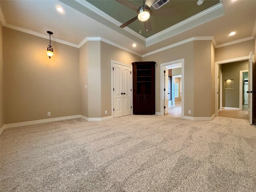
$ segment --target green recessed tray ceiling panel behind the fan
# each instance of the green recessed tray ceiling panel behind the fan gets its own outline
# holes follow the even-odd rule
[[[129,1],[138,7],[143,4],[143,0]],[[172,17],[150,16],[152,25],[152,31],[150,32],[146,32],[143,22],[138,19],[128,25],[128,27],[135,32],[142,30],[141,35],[147,38],[220,2],[219,0],[205,0],[201,6],[198,6],[196,4],[197,1],[198,0],[170,0],[170,2],[160,9],[174,8],[176,15]],[[127,8],[115,0],[88,0],[88,2],[121,23],[126,22],[137,14],[136,11]],[[154,8],[151,7],[151,9]]]

